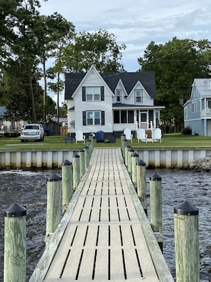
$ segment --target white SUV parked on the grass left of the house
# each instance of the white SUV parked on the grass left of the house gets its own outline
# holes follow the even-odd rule
[[[21,130],[21,142],[24,141],[42,141],[44,140],[44,129],[43,125],[36,123],[25,125]]]

